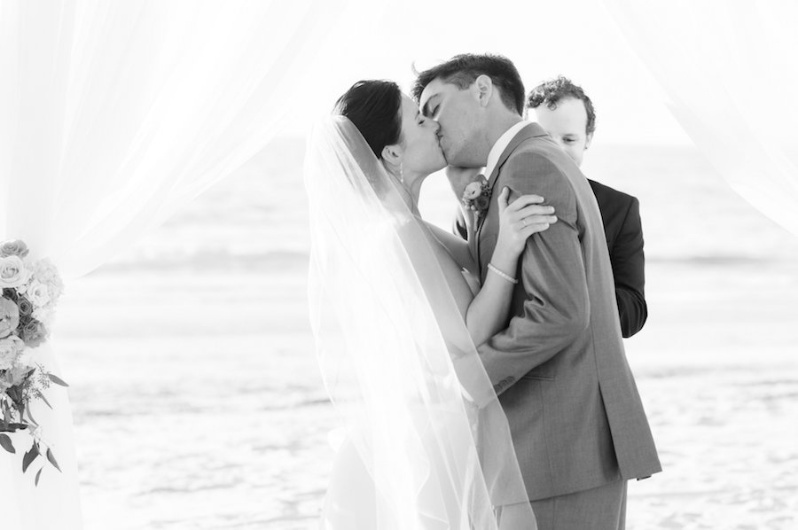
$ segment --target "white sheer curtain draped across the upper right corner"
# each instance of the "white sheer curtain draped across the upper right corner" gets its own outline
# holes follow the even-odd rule
[[[693,142],[798,235],[798,3],[605,0]]]

